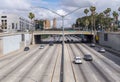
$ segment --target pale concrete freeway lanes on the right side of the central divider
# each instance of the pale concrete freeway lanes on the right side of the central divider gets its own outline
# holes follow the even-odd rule
[[[74,82],[120,81],[120,66],[114,63],[114,61],[109,60],[85,44],[67,44],[66,46],[71,61],[73,61],[75,56],[83,58],[84,54],[91,54],[93,57],[92,62],[84,61],[83,59],[83,64],[71,64]],[[120,60],[120,58],[118,60]]]

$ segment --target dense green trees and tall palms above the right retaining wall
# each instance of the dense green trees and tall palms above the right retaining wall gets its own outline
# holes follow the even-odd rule
[[[75,27],[79,27],[81,30],[91,31],[118,30],[119,14],[116,11],[112,12],[111,8],[107,8],[103,12],[97,13],[96,7],[91,6],[89,9],[84,9],[84,13],[84,17],[76,19]]]

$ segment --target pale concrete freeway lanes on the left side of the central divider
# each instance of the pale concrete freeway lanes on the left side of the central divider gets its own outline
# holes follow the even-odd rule
[[[44,49],[36,46],[30,52],[2,58],[0,82],[57,82],[60,75],[56,70],[60,66],[60,49],[61,45],[46,45]]]

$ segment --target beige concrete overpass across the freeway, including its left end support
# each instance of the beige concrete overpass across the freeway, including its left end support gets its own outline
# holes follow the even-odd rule
[[[32,38],[32,44],[39,43],[41,39],[41,35],[62,35],[63,31],[59,30],[50,30],[50,31],[34,31],[33,32],[33,38]],[[94,33],[91,31],[79,31],[79,30],[65,30],[64,35],[85,35],[87,38],[92,38]]]

